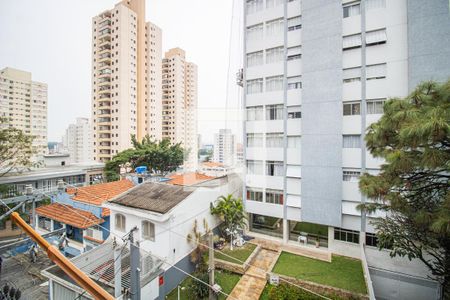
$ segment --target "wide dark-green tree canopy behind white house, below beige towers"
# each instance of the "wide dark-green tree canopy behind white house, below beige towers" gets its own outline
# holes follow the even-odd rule
[[[154,174],[165,176],[175,171],[183,164],[185,151],[181,143],[172,145],[169,139],[152,141],[146,135],[141,142],[131,137],[133,148],[115,155],[105,165],[105,175],[108,181],[119,179],[120,168],[146,166]]]

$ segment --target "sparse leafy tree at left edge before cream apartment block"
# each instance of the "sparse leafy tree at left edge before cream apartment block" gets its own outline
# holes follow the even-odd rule
[[[8,120],[0,118],[0,177],[13,170],[26,169],[34,164],[33,136],[11,127]]]

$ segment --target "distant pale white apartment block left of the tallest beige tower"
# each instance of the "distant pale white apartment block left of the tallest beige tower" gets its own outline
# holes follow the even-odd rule
[[[74,163],[86,163],[92,159],[92,134],[88,118],[77,118],[75,124],[70,124],[63,137],[63,147]]]

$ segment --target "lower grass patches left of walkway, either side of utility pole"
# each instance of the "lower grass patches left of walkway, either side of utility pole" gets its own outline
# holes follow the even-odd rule
[[[215,272],[216,283],[219,284],[222,287],[222,291],[227,294],[231,293],[234,286],[238,283],[239,279],[241,279],[241,275],[238,275],[238,274],[234,274],[234,273],[222,271],[222,270],[216,270],[216,272]],[[182,287],[189,286],[189,284],[192,280],[193,279],[191,277],[187,277],[185,280],[183,280],[183,282],[181,282],[180,285]],[[177,288],[174,288],[166,296],[166,299],[177,300],[177,296],[178,296],[177,292],[178,292]],[[182,299],[182,300],[196,299],[196,296],[192,295],[192,293],[190,293],[189,289],[184,289],[184,290],[180,291],[180,299]],[[207,298],[205,298],[205,299],[207,299]],[[226,297],[223,294],[220,294],[219,299],[224,300],[224,299],[226,299]]]

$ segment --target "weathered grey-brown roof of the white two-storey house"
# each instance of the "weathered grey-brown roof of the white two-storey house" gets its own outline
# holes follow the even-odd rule
[[[186,199],[195,188],[145,182],[112,200],[111,203],[165,214]]]

